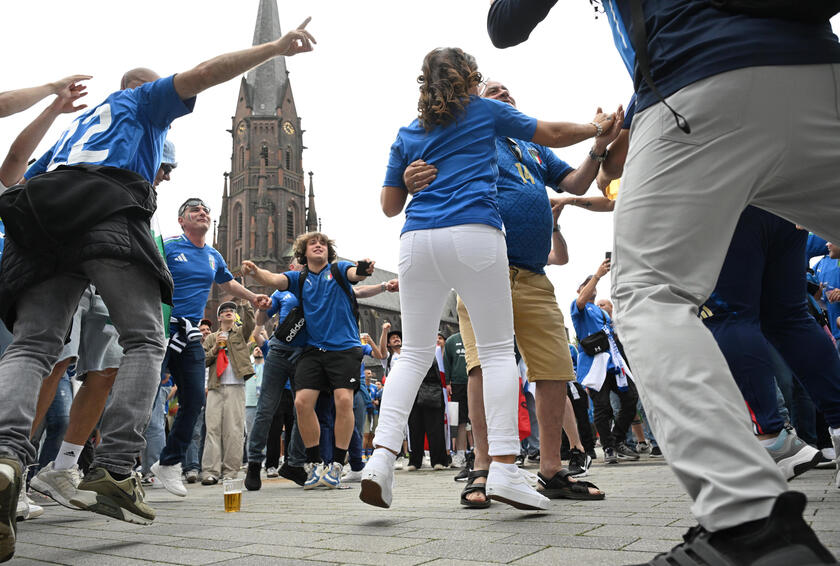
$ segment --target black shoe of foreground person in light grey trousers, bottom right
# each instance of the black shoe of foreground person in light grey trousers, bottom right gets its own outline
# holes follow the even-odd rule
[[[837,564],[802,519],[805,495],[787,491],[776,498],[766,519],[710,533],[691,527],[683,542],[647,566],[816,566]],[[643,566],[643,565],[638,565]]]

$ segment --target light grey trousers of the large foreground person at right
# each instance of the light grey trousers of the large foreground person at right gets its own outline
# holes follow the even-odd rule
[[[692,133],[661,103],[633,120],[612,296],[656,440],[716,531],[767,517],[787,483],[697,309],[748,204],[840,243],[840,65],[739,69],[668,103]]]

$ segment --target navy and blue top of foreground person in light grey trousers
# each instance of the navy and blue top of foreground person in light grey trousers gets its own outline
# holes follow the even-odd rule
[[[628,70],[632,69],[640,112],[658,99],[635,66],[629,1],[604,0],[603,6],[616,48]],[[643,9],[650,74],[665,97],[734,69],[840,62],[840,44],[828,22],[754,18],[697,0],[646,0]]]

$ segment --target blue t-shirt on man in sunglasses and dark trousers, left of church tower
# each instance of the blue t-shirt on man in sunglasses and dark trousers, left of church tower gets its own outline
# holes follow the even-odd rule
[[[200,320],[213,282],[233,279],[222,254],[206,244],[197,248],[184,234],[165,240],[163,253],[175,282],[172,316]]]

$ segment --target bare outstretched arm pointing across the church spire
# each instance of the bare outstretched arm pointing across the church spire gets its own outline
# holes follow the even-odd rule
[[[200,63],[189,71],[178,73],[173,79],[175,92],[186,100],[210,87],[238,77],[273,57],[280,55],[291,57],[298,53],[312,51],[312,44],[316,41],[305,29],[310,19],[306,18],[297,29],[288,32],[278,40],[241,51],[225,53]]]

